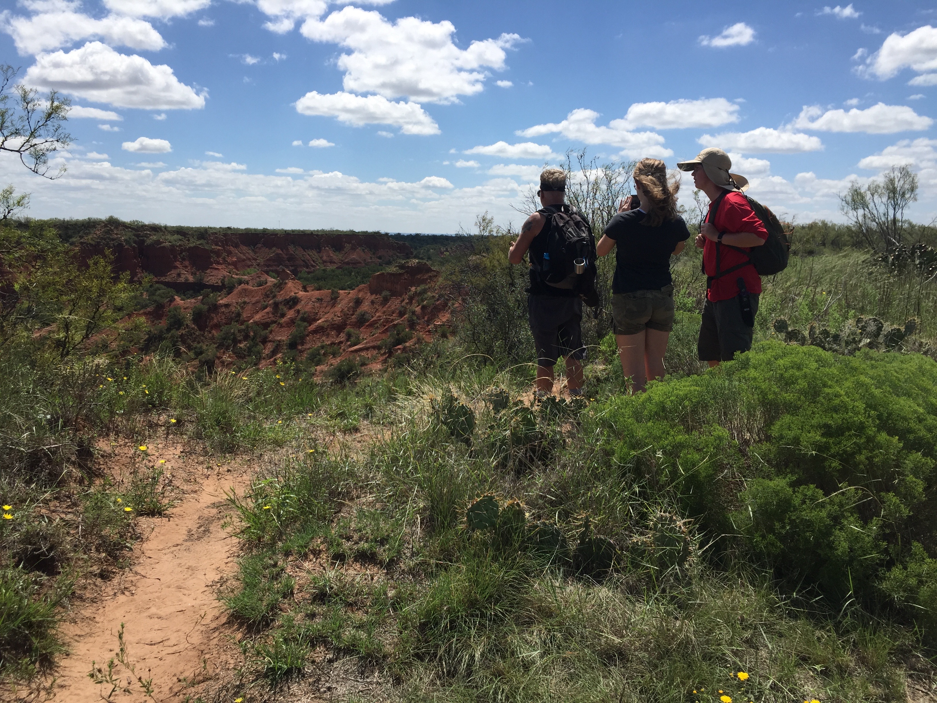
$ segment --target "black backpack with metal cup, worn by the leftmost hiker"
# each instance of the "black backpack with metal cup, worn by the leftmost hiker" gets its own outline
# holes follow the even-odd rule
[[[592,227],[573,206],[565,203],[547,205],[537,212],[546,217],[544,227],[549,227],[549,231],[543,257],[530,257],[534,271],[546,285],[577,292],[588,307],[598,306],[599,293],[595,289],[598,271]],[[573,263],[576,259],[586,261],[581,274],[576,273]]]

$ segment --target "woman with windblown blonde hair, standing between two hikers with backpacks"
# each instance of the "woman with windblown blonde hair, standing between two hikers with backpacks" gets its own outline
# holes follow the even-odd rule
[[[632,172],[632,195],[605,227],[596,247],[605,256],[617,247],[612,279],[612,318],[625,378],[632,393],[645,390],[648,379],[662,379],[667,339],[674,328],[674,281],[670,257],[690,237],[677,214],[676,179],[656,158],[642,158]]]

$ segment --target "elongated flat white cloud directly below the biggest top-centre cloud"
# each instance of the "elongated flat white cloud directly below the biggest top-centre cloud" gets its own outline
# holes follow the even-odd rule
[[[383,96],[356,96],[344,92],[320,95],[312,91],[296,101],[296,112],[336,117],[354,127],[394,125],[404,134],[439,134],[439,126],[419,104],[392,102]]]

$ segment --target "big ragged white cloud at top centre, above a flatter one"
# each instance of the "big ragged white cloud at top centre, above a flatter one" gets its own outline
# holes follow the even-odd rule
[[[350,50],[337,60],[345,71],[346,91],[443,104],[481,92],[487,69],[503,68],[505,50],[520,41],[517,35],[503,34],[459,49],[452,22],[416,17],[389,22],[360,7],[344,7],[321,21],[306,20],[300,31],[314,41]]]

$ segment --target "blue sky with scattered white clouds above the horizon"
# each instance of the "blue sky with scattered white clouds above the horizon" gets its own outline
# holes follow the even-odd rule
[[[516,224],[567,149],[674,167],[709,145],[799,221],[897,164],[937,216],[932,3],[2,7],[0,61],[75,106],[62,178],[0,159],[34,217],[454,232]]]

